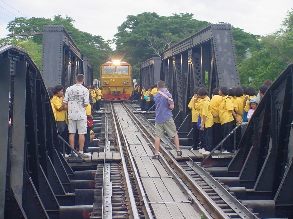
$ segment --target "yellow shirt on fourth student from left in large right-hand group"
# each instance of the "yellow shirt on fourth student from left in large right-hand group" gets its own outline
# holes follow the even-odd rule
[[[226,95],[225,97],[222,97],[219,106],[219,117],[221,125],[234,120],[231,110],[234,110],[234,106],[231,99],[228,97],[228,95]]]

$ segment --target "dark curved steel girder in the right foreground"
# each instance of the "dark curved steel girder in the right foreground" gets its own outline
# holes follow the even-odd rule
[[[288,218],[293,214],[292,80],[293,63],[266,91],[228,165],[251,197],[274,200],[276,216]]]

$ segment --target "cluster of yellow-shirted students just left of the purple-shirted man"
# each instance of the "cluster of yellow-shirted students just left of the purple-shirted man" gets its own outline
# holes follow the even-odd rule
[[[139,86],[138,86],[139,89]],[[141,91],[141,112],[155,111],[155,95],[158,93],[157,84],[145,85]]]

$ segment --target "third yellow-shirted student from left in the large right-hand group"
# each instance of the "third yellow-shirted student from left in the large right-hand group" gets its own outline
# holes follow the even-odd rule
[[[212,107],[212,114],[219,114],[219,106],[222,101],[222,96],[219,95],[219,88],[213,89],[213,96],[210,100],[210,105]],[[213,118],[213,146],[216,147],[222,140],[221,122],[220,118]]]

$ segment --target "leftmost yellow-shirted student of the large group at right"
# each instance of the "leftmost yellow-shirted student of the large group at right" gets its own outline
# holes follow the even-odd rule
[[[197,150],[197,146],[199,145],[199,130],[196,127],[196,122],[199,119],[199,111],[197,111],[194,108],[194,99],[197,100],[199,98],[197,96],[197,91],[199,90],[199,87],[194,88],[194,96],[191,97],[191,100],[188,104],[188,108],[191,110],[191,123],[192,125],[192,131],[193,131],[193,136],[192,136],[192,148],[191,150]]]

